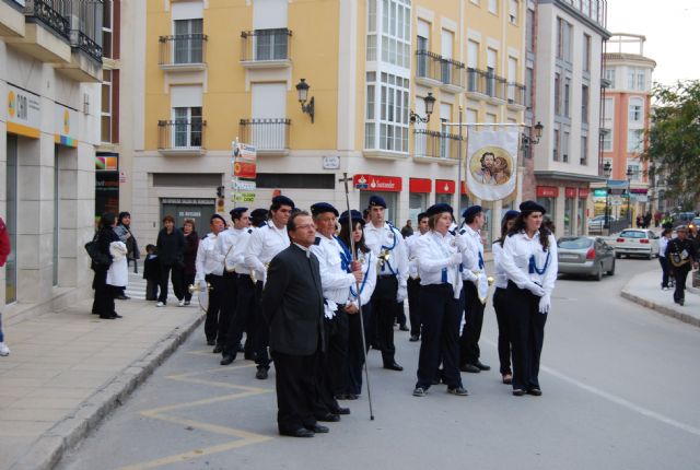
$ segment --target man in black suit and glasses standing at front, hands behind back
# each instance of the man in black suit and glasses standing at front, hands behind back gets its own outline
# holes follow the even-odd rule
[[[281,435],[327,433],[314,416],[315,384],[324,346],[324,294],[318,259],[308,249],[316,230],[308,212],[290,216],[292,244],[272,258],[262,291],[275,361],[277,423]]]

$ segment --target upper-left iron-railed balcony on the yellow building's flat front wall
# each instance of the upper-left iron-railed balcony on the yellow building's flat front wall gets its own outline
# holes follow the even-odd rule
[[[159,37],[158,66],[166,71],[196,71],[207,68],[207,35],[176,34]]]

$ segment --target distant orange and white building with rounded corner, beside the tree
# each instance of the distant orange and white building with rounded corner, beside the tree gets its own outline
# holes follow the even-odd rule
[[[642,35],[616,33],[604,55],[608,87],[603,97],[603,164],[609,179],[627,180],[630,188],[629,201],[627,192],[612,197],[610,215],[631,216],[632,221],[640,213],[655,212],[658,207],[654,203],[658,199],[650,188],[648,164],[640,160],[649,145],[645,134],[651,125],[652,72],[656,67],[654,60],[644,56],[645,40]],[[606,185],[597,186],[603,191],[596,191],[595,210],[596,214],[603,214]]]

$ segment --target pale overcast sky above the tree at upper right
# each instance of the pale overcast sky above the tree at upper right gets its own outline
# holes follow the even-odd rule
[[[656,61],[655,82],[700,80],[699,0],[608,0],[608,31],[646,36],[644,56]],[[608,51],[614,51],[608,45]]]

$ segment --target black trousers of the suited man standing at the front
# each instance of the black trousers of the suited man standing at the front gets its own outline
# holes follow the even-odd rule
[[[280,433],[316,424],[315,383],[319,353],[300,356],[272,352],[277,389],[277,425]]]

